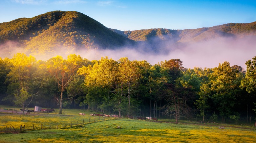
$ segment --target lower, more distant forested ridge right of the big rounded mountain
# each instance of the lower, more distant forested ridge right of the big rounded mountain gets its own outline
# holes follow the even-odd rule
[[[245,37],[256,35],[256,22],[253,23],[229,23],[213,27],[203,27],[198,29],[170,30],[170,29],[142,29],[134,31],[120,31],[110,29],[135,41],[150,41],[152,38],[160,40],[172,40],[173,42],[193,42],[209,40],[217,37]]]

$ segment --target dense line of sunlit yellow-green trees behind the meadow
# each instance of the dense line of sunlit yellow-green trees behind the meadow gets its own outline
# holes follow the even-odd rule
[[[0,103],[86,108],[119,116],[222,122],[255,117],[256,56],[241,66],[187,69],[180,59],[152,65],[102,57],[56,56],[47,61],[17,53],[0,58]]]

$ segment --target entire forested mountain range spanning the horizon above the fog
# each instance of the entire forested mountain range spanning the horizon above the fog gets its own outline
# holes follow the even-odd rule
[[[161,47],[182,46],[214,38],[240,39],[247,36],[256,36],[256,22],[184,30],[158,28],[120,31],[107,28],[80,12],[53,11],[32,18],[0,23],[0,50],[8,47],[11,42],[33,54],[63,47],[82,50],[140,46],[144,50],[159,52]]]

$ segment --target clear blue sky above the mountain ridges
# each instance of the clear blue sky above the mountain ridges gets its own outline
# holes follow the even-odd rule
[[[108,28],[196,29],[256,21],[256,0],[0,0],[0,23],[78,11]]]

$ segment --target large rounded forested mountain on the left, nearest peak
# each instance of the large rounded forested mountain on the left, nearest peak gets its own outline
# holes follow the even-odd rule
[[[39,53],[60,46],[115,48],[134,43],[76,11],[53,11],[0,23],[0,44],[10,40]]]

